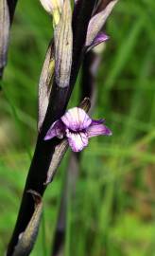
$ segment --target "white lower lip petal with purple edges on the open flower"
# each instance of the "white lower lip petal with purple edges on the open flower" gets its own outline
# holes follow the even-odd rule
[[[66,137],[68,137],[68,143],[74,152],[79,152],[88,145],[86,133],[72,133],[67,129]]]

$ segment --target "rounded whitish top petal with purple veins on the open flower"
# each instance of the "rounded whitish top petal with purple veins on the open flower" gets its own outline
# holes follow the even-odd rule
[[[79,107],[69,109],[64,116],[61,117],[61,120],[67,128],[75,132],[86,129],[92,122],[92,119],[89,118],[86,112]]]

